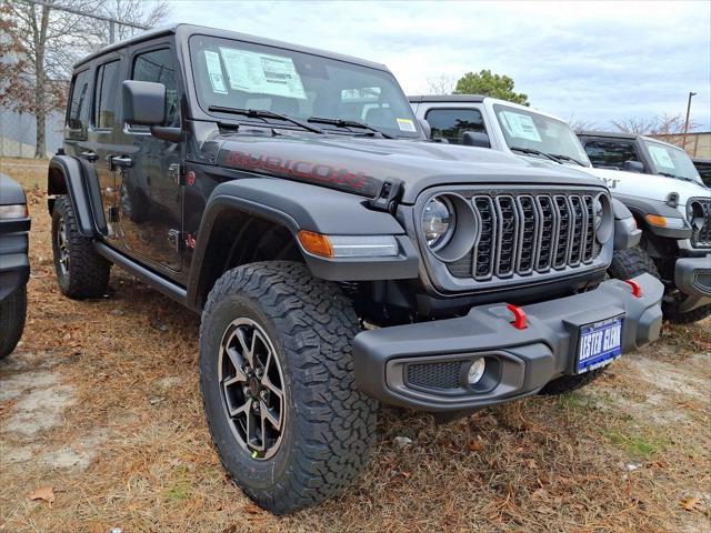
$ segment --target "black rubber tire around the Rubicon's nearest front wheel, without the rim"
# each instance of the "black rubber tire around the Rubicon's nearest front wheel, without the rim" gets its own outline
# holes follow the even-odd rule
[[[222,335],[240,318],[270,338],[283,373],[286,422],[270,459],[253,459],[231,432],[218,383]],[[338,495],[368,463],[375,400],[356,388],[358,318],[332,283],[303,264],[259,262],[226,272],[210,292],[200,328],[200,386],[212,441],[244,493],[274,514]]]

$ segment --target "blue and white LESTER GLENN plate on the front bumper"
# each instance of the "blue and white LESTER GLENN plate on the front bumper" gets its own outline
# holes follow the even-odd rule
[[[575,372],[599,369],[622,355],[623,316],[580,326]]]

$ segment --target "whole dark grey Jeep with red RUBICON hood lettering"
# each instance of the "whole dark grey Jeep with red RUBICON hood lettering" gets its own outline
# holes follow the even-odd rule
[[[289,513],[359,475],[378,401],[467,413],[657,339],[663,288],[603,281],[624,235],[574,172],[425,141],[382,64],[179,24],[76,67],[57,274],[92,298],[117,264],[202,314],[222,463]]]

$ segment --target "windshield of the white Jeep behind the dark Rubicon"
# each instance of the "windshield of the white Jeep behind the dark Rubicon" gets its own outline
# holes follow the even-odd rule
[[[563,161],[570,158],[590,167],[578,137],[562,120],[501,104],[494,104],[493,109],[510,149],[525,149],[533,157],[535,150],[541,152],[541,158],[562,155]]]

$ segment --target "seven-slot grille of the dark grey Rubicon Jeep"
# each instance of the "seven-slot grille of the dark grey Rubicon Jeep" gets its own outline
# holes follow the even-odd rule
[[[448,263],[477,281],[590,264],[600,253],[591,193],[474,194],[481,232],[472,250]]]

